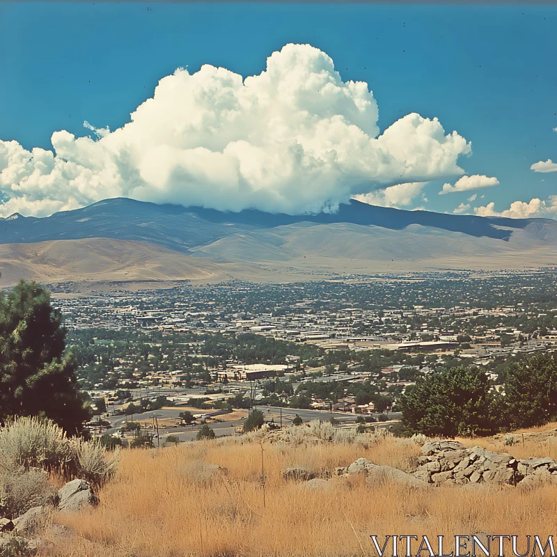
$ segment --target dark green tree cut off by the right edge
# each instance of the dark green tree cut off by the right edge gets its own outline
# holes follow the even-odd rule
[[[505,377],[505,425],[534,427],[557,416],[557,363],[549,354],[513,362]]]

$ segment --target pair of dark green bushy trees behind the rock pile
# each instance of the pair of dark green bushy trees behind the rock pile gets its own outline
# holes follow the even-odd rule
[[[539,354],[510,364],[497,389],[485,370],[458,366],[418,377],[400,395],[407,434],[490,435],[557,418],[557,359]]]

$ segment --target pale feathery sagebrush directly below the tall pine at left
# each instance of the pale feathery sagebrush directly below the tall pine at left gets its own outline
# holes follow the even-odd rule
[[[71,459],[61,427],[40,418],[17,418],[0,428],[0,470],[62,469]]]

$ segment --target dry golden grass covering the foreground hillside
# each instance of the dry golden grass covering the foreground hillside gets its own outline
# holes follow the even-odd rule
[[[469,444],[468,441],[465,441]],[[485,440],[473,440],[482,444]],[[261,449],[265,465],[265,505]],[[506,447],[519,450],[519,447]],[[162,450],[125,450],[116,478],[93,510],[58,515],[72,528],[54,537],[49,556],[372,556],[369,535],[549,535],[557,485],[437,487],[398,483],[369,487],[363,476],[307,489],[283,480],[288,466],[331,471],[367,457],[408,469],[419,454],[409,440],[280,446],[205,441]],[[210,477],[201,463],[226,473]],[[431,539],[430,538],[430,539]]]

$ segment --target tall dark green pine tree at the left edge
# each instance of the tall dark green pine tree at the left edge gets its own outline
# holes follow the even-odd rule
[[[64,355],[62,315],[37,283],[19,281],[0,293],[0,420],[46,416],[81,432],[91,416],[79,392],[72,354]]]

